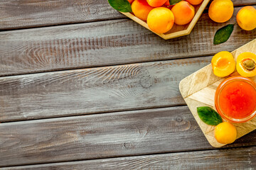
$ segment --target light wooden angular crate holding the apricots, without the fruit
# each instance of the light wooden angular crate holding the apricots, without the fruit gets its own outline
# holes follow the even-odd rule
[[[188,23],[184,26],[178,26],[174,23],[173,28],[171,28],[171,30],[169,30],[167,33],[161,33],[161,34],[156,33],[156,34],[159,35],[161,38],[164,38],[165,40],[190,34],[191,30],[193,30],[194,26],[196,25],[196,22],[200,18],[201,14],[203,13],[203,10],[206,8],[209,1],[210,0],[204,0],[201,4],[194,6],[196,14],[190,23]],[[149,26],[147,25],[147,23],[145,21],[142,21],[141,19],[137,18],[132,13],[123,13],[123,14],[125,16],[131,18],[133,21],[139,23],[140,25],[142,25],[145,28],[150,30]],[[154,32],[154,31],[152,31],[152,32]]]

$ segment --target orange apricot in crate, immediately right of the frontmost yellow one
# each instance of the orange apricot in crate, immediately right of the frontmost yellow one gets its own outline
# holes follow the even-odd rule
[[[178,2],[171,11],[174,13],[174,23],[177,25],[185,25],[195,16],[195,8],[187,1]]]

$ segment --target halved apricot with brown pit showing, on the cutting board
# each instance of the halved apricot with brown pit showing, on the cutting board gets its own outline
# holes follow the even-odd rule
[[[238,55],[236,69],[241,76],[256,76],[256,55],[252,52],[242,52]]]

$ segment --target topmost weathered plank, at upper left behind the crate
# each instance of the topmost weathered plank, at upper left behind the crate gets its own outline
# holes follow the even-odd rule
[[[233,0],[235,6],[256,4],[255,0]],[[92,0],[1,0],[0,30],[55,26],[67,23],[126,18],[105,1]]]

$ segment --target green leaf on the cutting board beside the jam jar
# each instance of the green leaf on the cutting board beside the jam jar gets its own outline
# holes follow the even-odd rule
[[[208,106],[203,106],[197,108],[199,118],[207,125],[218,125],[222,123],[223,120],[220,115]]]

